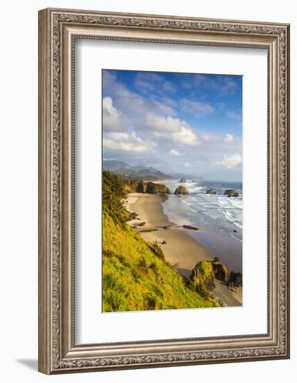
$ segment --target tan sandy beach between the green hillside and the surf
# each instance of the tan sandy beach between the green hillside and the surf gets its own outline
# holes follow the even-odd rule
[[[141,233],[145,240],[150,242],[156,240],[161,246],[166,260],[180,274],[190,276],[192,269],[200,260],[214,259],[211,252],[195,240],[186,229],[168,220],[168,217],[163,212],[159,196],[131,193],[125,201],[125,207],[130,212],[138,214],[137,219],[129,221],[129,225]],[[166,226],[170,226],[170,228],[165,229]],[[162,244],[163,241],[166,244]],[[228,289],[220,281],[216,281],[213,294],[227,306],[241,306],[242,288],[232,290]]]

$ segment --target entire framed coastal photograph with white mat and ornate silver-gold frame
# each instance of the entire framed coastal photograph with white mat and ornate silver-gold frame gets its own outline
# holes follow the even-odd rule
[[[39,13],[39,370],[289,358],[289,24]]]

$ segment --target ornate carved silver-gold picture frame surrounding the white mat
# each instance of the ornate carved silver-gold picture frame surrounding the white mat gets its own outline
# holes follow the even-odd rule
[[[268,51],[268,332],[75,345],[73,41]],[[289,358],[289,25],[45,9],[39,13],[39,370],[69,373]]]

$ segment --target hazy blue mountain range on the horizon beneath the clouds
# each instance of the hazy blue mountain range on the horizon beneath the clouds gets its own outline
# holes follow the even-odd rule
[[[126,162],[117,161],[116,159],[106,159],[103,161],[103,169],[109,170],[111,173],[122,175],[126,178],[137,178],[139,180],[156,181],[156,180],[172,180],[168,174],[162,173],[152,167],[142,165],[131,166]]]

